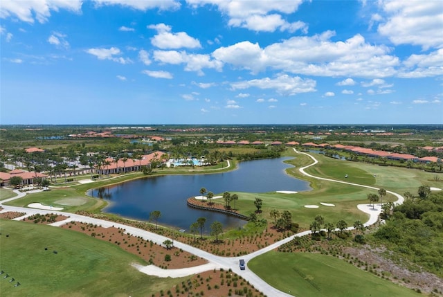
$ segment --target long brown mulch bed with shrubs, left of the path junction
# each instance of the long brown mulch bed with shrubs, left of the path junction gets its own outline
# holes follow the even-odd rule
[[[116,244],[120,246],[121,249],[138,255],[148,263],[163,269],[195,267],[207,263],[203,258],[176,247],[166,249],[164,246],[159,246],[149,240],[143,240],[141,237],[126,234],[125,230],[121,228],[104,228],[102,226],[80,222],[69,222],[60,227],[86,233],[99,240]],[[167,260],[167,258],[170,258],[170,260]]]

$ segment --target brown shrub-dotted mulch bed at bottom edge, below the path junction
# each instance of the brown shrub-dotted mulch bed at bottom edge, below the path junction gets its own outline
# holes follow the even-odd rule
[[[259,297],[264,295],[232,271],[213,270],[192,276],[167,291],[152,294],[152,297],[161,296]]]

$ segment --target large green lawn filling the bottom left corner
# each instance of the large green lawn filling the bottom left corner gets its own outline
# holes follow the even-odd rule
[[[1,296],[148,296],[181,281],[140,273],[140,258],[75,231],[0,219],[0,233]]]

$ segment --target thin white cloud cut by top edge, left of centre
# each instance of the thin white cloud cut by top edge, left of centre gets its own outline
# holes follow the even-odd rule
[[[69,0],[66,0],[69,1]],[[175,0],[93,0],[99,6],[119,5],[127,6],[137,10],[159,9],[159,10],[178,10],[181,6],[179,1]]]

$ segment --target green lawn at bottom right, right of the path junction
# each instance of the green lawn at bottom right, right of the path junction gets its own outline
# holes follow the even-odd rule
[[[318,253],[271,251],[248,262],[248,269],[273,287],[298,297],[421,296],[343,260]]]

